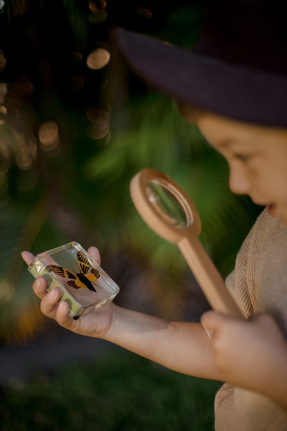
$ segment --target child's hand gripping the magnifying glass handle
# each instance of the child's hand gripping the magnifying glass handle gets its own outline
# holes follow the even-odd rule
[[[207,312],[201,316],[201,322],[212,331],[215,366],[222,380],[260,392],[277,402],[282,387],[286,399],[287,344],[271,316],[255,314],[242,321]],[[280,400],[279,404],[282,405]]]

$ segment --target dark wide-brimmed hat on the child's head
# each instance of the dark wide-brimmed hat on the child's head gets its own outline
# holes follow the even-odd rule
[[[192,50],[123,29],[116,30],[117,43],[137,75],[179,102],[287,126],[287,26],[280,5],[211,1]]]

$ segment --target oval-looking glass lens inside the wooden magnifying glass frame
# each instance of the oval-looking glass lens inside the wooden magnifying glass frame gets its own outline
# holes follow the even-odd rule
[[[150,204],[166,221],[184,229],[190,225],[191,220],[184,211],[179,196],[172,189],[154,180],[147,184],[146,191]]]

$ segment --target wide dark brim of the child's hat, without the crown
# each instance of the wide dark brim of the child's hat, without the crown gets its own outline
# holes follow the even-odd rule
[[[240,121],[287,126],[283,75],[228,64],[121,28],[115,32],[130,68],[161,93]]]

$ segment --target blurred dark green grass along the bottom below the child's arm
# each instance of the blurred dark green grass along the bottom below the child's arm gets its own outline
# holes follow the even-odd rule
[[[1,431],[213,430],[221,383],[167,370],[127,352],[2,387]]]

